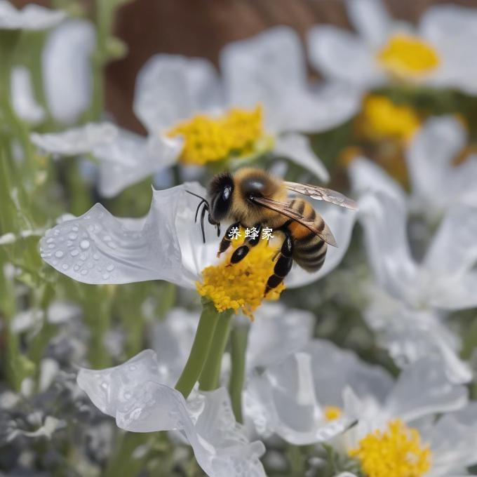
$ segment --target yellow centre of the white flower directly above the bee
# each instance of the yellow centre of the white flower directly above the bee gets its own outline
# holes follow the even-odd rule
[[[220,117],[197,114],[177,124],[169,137],[182,136],[184,147],[180,161],[203,166],[208,162],[242,158],[271,147],[264,133],[263,110],[232,108]]]

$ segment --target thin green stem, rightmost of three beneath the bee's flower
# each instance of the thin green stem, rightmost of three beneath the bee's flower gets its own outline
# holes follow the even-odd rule
[[[231,333],[231,372],[229,394],[237,422],[243,422],[242,389],[245,378],[248,326],[236,326]]]

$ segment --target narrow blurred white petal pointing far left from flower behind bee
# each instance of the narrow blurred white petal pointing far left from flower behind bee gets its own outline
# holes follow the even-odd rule
[[[45,152],[74,156],[93,152],[95,147],[114,141],[117,135],[118,130],[112,123],[88,123],[61,133],[32,133],[30,138]]]

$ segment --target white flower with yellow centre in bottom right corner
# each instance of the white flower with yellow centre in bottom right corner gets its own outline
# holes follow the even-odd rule
[[[448,382],[438,360],[424,358],[403,370],[384,399],[372,389],[353,394],[347,399],[358,424],[333,445],[362,471],[389,476],[384,455],[393,477],[455,476],[476,462],[476,407],[464,387]]]

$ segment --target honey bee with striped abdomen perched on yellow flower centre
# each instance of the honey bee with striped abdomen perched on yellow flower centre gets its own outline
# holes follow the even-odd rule
[[[201,228],[204,243],[203,221],[206,213],[208,222],[217,227],[218,236],[220,222],[233,222],[220,242],[217,257],[229,248],[231,232],[236,227],[255,227],[259,234],[264,227],[269,227],[283,235],[281,248],[274,257],[274,274],[268,278],[264,295],[283,281],[294,261],[306,271],[317,271],[325,262],[328,245],[337,246],[323,217],[305,199],[290,198],[289,191],[340,207],[357,208],[354,201],[340,192],[311,184],[285,182],[257,168],[242,168],[234,174],[217,174],[208,185],[207,199],[198,196],[201,202],[197,206],[196,220],[203,206]],[[190,194],[197,196],[192,192]],[[260,235],[247,237],[243,245],[234,250],[230,264],[243,260],[259,240]]]

